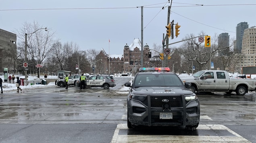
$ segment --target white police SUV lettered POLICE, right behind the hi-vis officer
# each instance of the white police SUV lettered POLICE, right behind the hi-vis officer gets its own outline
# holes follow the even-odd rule
[[[80,80],[77,80],[76,86],[80,87]],[[85,80],[85,87],[103,87],[108,89],[109,87],[116,86],[116,81],[110,75],[93,75]]]

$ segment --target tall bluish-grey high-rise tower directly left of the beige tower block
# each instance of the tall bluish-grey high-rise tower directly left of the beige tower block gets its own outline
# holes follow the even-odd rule
[[[248,27],[249,25],[247,24],[247,22],[240,22],[236,26],[236,46],[234,49],[236,53],[241,53],[244,30]]]

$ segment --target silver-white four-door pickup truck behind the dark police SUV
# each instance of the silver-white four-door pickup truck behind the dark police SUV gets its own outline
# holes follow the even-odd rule
[[[256,90],[255,79],[229,78],[225,70],[200,70],[191,77],[180,77],[183,82],[190,82],[189,89],[197,92],[225,92],[245,95],[248,91]]]

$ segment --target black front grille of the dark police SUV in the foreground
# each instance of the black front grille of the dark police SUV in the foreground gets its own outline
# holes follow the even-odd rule
[[[162,102],[163,99],[168,99],[168,102]],[[181,96],[172,97],[150,97],[151,107],[162,108],[163,104],[169,104],[171,108],[183,107]],[[148,107],[148,99],[141,101],[145,106]]]

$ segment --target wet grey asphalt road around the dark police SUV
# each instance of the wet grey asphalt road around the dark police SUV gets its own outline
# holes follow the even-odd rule
[[[127,129],[126,93],[116,90],[129,78],[117,78],[110,89],[69,87],[6,92],[0,96],[1,143],[256,143],[254,94],[198,94],[200,125]]]

